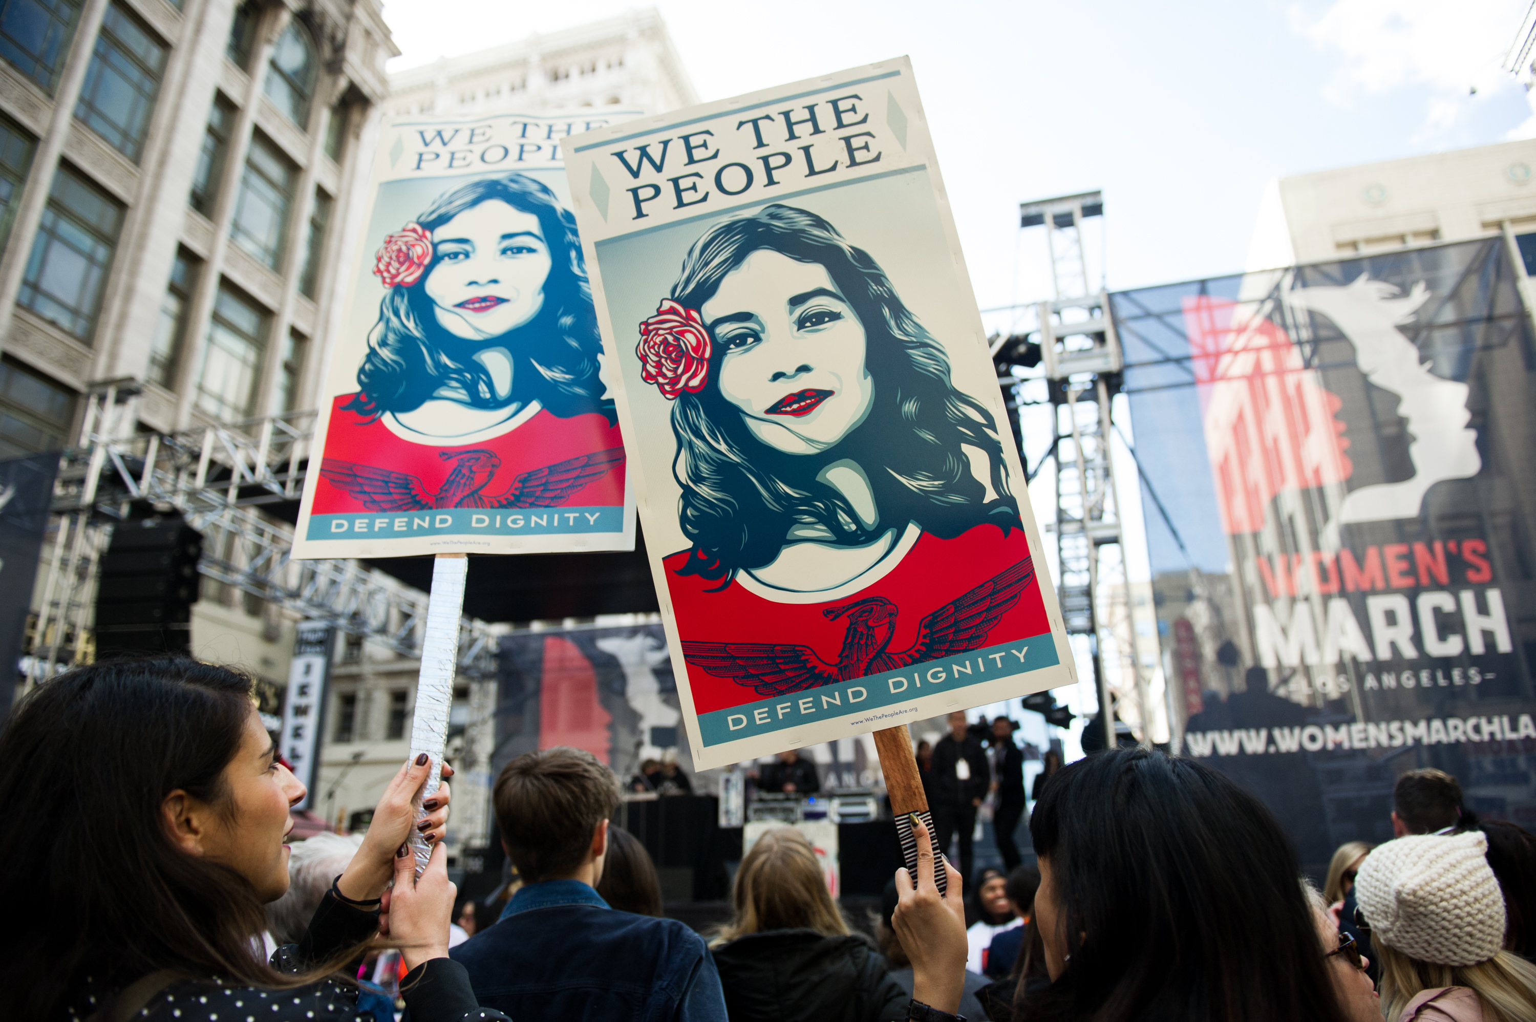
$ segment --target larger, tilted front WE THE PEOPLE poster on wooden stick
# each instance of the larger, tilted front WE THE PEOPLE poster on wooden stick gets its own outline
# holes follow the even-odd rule
[[[694,761],[1071,684],[909,61],[565,158]]]

